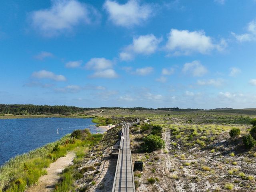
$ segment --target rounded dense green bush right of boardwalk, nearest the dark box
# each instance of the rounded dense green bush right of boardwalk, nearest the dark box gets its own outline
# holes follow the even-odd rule
[[[147,152],[159,150],[164,148],[165,146],[164,140],[162,140],[160,136],[152,135],[152,134],[144,138],[144,144],[145,144],[145,150]]]

